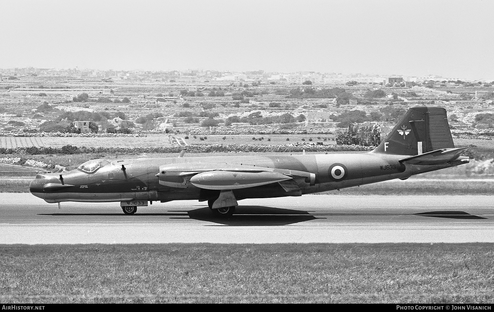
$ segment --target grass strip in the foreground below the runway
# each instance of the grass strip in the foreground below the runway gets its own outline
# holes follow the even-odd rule
[[[494,244],[0,245],[5,303],[489,303]]]

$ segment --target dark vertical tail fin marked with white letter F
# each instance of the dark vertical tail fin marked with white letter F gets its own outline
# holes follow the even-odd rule
[[[372,153],[420,155],[454,148],[446,110],[442,107],[412,107]]]

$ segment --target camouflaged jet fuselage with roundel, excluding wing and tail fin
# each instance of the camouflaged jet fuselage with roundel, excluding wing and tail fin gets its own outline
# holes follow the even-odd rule
[[[114,160],[88,173],[81,169],[64,173],[40,174],[30,185],[30,191],[47,202],[87,201],[111,202],[128,200],[170,201],[183,199],[207,200],[214,190],[196,187],[187,178],[178,176],[178,187],[160,183],[160,167],[200,164],[228,165],[242,168],[287,169],[310,173],[310,177],[294,179],[294,190],[278,182],[262,186],[233,189],[237,199],[298,196],[337,190],[374,182],[406,179],[412,175],[456,166],[462,162],[437,165],[404,164],[407,155],[375,153],[278,155],[278,156],[207,156],[167,157]],[[467,161],[467,160],[465,160]],[[215,172],[211,171],[211,174]],[[248,178],[247,178],[248,179]],[[249,182],[246,182],[249,183]],[[233,188],[233,187],[232,187]],[[219,191],[218,191],[219,193]]]

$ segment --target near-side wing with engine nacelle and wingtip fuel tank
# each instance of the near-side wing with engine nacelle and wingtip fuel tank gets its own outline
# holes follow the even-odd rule
[[[315,174],[310,172],[239,163],[186,162],[163,165],[156,176],[161,185],[168,187],[188,188],[193,185],[208,190],[246,189],[292,179],[310,185],[315,183]]]

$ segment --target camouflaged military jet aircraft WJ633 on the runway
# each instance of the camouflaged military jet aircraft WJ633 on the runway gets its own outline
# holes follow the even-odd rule
[[[231,216],[238,200],[339,190],[468,163],[454,148],[446,110],[413,107],[373,151],[361,154],[94,159],[64,173],[38,174],[33,195],[49,203],[120,202],[125,214],[153,201],[207,201]]]

